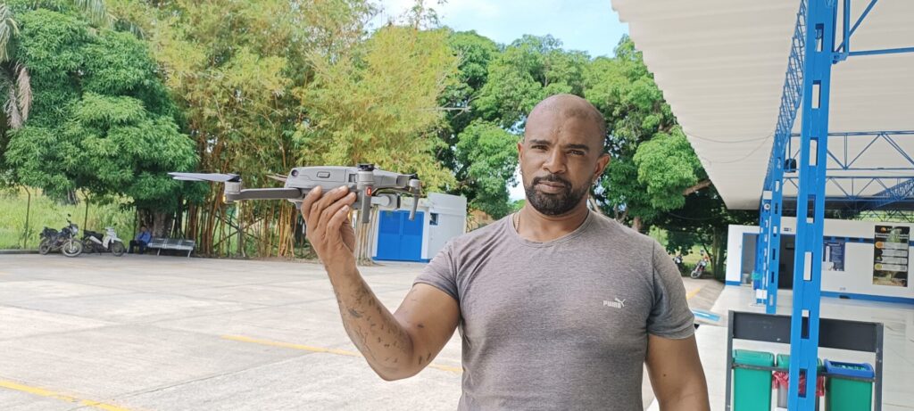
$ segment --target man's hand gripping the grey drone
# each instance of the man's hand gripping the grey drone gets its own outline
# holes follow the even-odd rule
[[[328,270],[331,265],[335,269],[355,267],[356,232],[349,223],[349,210],[355,202],[356,194],[349,193],[345,185],[326,194],[318,185],[304,196],[305,235]]]

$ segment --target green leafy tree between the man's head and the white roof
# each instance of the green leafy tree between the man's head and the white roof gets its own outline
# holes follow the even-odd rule
[[[630,38],[622,38],[614,58],[592,61],[585,79],[584,96],[607,121],[612,160],[595,191],[607,214],[643,230],[659,213],[684,205],[685,195],[709,185]]]

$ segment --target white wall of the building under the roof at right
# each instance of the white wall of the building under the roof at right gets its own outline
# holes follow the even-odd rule
[[[874,246],[872,239],[877,225],[912,227],[905,223],[877,223],[872,221],[825,220],[825,237],[847,237],[850,241],[845,243],[845,270],[823,270],[822,290],[834,294],[861,294],[866,296],[914,299],[914,279],[912,265],[908,265],[908,286],[886,286],[873,284],[873,258]],[[744,233],[758,233],[757,226],[730,226],[728,230],[728,258],[727,283],[739,284],[740,273],[752,268],[744,268],[741,258],[732,258],[742,255],[742,240]],[[914,234],[914,229],[912,229]],[[796,235],[796,218],[781,218],[781,235]],[[870,242],[855,242],[855,239],[868,239]],[[914,258],[914,248],[909,248],[909,258]],[[852,296],[853,297],[853,296]]]

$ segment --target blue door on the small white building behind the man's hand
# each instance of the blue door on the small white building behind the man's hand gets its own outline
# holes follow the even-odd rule
[[[422,261],[423,213],[409,221],[409,211],[382,211],[377,222],[376,259]]]

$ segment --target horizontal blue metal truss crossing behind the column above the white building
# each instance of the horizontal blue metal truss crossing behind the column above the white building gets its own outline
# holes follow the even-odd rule
[[[898,144],[896,141],[898,137],[914,137],[914,131],[830,132],[828,134],[828,158],[834,162],[834,165],[830,165],[827,168],[827,171],[914,171],[914,158],[911,158],[910,154]],[[792,134],[791,142],[788,144],[787,151],[790,153],[790,158],[792,159],[795,159],[800,155],[799,147],[797,147],[796,150],[793,149],[793,142],[799,138],[799,134]],[[866,145],[862,149],[852,152],[848,142],[858,139],[866,139]],[[832,150],[832,144],[834,144],[836,140],[837,142],[842,143],[844,147],[843,152],[834,153]],[[892,158],[880,157],[877,159],[879,162],[898,163],[901,165],[889,167],[866,167],[856,165],[861,159],[868,158],[866,154],[873,150],[874,146],[878,147],[880,145],[887,145],[891,149],[889,152],[892,153]]]

